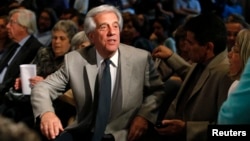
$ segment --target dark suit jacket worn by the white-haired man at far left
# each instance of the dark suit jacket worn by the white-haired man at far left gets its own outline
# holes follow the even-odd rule
[[[12,56],[14,54],[15,51],[13,51],[13,49],[15,47],[16,45],[13,44],[6,50],[6,54],[0,60],[0,70],[5,67],[6,62],[8,62],[11,58],[8,56]],[[19,77],[19,65],[30,64],[36,56],[37,51],[40,47],[42,47],[42,44],[32,35],[24,43],[21,50],[16,54],[15,58],[12,60],[11,64],[9,64],[3,79],[3,83],[0,84],[0,101],[5,92],[7,92],[9,88],[14,85],[15,79]]]

